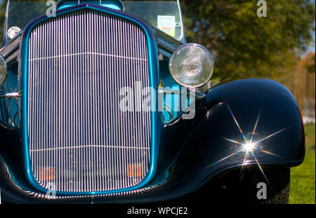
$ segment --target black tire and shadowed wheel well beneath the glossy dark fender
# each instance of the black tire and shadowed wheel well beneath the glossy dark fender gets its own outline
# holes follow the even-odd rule
[[[249,166],[230,170],[218,177],[214,177],[197,191],[190,201],[208,198],[208,203],[256,203],[256,204],[287,204],[289,203],[290,169]],[[268,180],[268,182],[267,182]],[[266,184],[266,199],[258,199],[257,193],[261,187],[257,184]]]

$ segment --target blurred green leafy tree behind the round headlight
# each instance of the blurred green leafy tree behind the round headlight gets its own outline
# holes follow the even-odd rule
[[[187,41],[211,50],[215,77],[275,77],[295,66],[312,41],[315,1],[267,0],[267,17],[262,18],[256,3],[183,1]]]

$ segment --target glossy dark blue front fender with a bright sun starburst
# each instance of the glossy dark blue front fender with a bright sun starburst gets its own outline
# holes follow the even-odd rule
[[[211,88],[196,107],[199,122],[171,168],[177,176],[169,178],[181,178],[182,191],[195,191],[220,172],[242,165],[291,167],[303,162],[301,112],[281,84],[269,79],[227,81]],[[249,143],[252,149],[246,149]],[[181,189],[181,182],[174,183]]]

